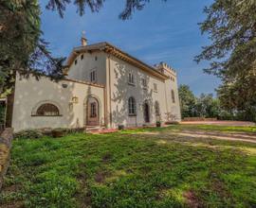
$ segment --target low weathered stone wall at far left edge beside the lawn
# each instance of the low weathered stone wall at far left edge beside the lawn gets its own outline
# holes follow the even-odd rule
[[[11,140],[13,138],[13,130],[7,128],[0,136],[0,190],[2,188],[4,176],[9,167],[9,152],[11,147]]]

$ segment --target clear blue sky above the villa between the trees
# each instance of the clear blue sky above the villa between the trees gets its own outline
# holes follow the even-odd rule
[[[42,30],[54,55],[68,56],[81,44],[82,31],[89,43],[109,42],[148,64],[165,61],[176,69],[178,83],[188,84],[195,95],[213,93],[220,81],[204,74],[207,62],[193,61],[201,46],[209,44],[197,23],[205,19],[203,9],[212,0],[151,1],[145,9],[136,11],[131,20],[119,20],[124,0],[106,0],[99,13],[89,9],[82,17],[71,4],[61,19],[57,12],[42,6]]]

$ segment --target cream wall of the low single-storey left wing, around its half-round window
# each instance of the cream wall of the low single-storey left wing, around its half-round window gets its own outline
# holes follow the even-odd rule
[[[63,84],[67,87],[64,88]],[[104,124],[104,89],[76,81],[51,81],[49,78],[19,78],[15,83],[12,127],[15,131],[41,128],[81,128],[85,125],[85,103],[88,96],[100,103],[100,121]],[[71,104],[72,97],[78,103]],[[61,116],[33,116],[43,103],[56,105]]]

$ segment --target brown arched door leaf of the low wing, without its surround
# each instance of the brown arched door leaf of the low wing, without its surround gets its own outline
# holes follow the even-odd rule
[[[99,101],[95,97],[89,97],[86,105],[86,125],[100,125],[100,108]]]

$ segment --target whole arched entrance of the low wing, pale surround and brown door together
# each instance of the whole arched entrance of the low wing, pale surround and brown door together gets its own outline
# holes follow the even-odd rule
[[[101,125],[101,99],[97,95],[87,95],[83,101],[84,126]]]

